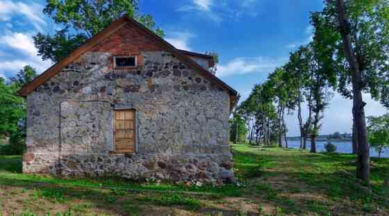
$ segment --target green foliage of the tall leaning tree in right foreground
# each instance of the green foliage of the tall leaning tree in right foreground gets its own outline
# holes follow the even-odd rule
[[[381,99],[388,106],[389,99],[389,2],[346,1],[346,16],[349,18],[351,43],[354,47],[359,69],[362,72],[361,90],[369,92],[374,99]],[[339,76],[338,91],[347,98],[352,98],[351,76],[349,64],[342,47],[342,38],[338,31],[338,13],[333,1],[326,1],[320,16],[328,35],[332,35],[331,43],[324,45],[336,49],[336,65]]]

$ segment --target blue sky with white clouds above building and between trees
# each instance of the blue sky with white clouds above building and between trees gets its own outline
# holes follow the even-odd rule
[[[0,76],[13,76],[27,64],[38,72],[51,66],[36,56],[31,38],[57,28],[42,14],[44,3],[0,0]],[[177,48],[217,51],[217,76],[242,99],[283,65],[290,51],[311,40],[309,13],[316,10],[322,10],[322,0],[140,0],[141,13],[152,15],[165,40]],[[367,115],[386,112],[368,94],[365,101]],[[295,113],[288,115],[289,135],[298,134],[297,123]],[[324,113],[322,133],[349,132],[350,127],[351,101],[335,94]]]

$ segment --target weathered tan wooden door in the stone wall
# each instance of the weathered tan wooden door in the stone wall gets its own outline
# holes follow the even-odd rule
[[[135,110],[115,110],[115,151],[135,152]]]

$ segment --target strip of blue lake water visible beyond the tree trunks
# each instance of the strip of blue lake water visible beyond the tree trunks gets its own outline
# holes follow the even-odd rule
[[[326,144],[326,141],[317,141],[316,142],[316,151],[326,151],[324,149],[324,144]],[[333,144],[336,145],[336,151],[339,153],[352,153],[352,144],[349,141],[332,141]],[[288,147],[299,149],[300,147],[300,141],[299,140],[288,140]],[[311,149],[311,141],[306,142],[306,149]],[[370,149],[370,156],[378,157],[378,152],[374,149]],[[389,158],[389,149],[383,150],[381,153],[381,157],[383,158]]]

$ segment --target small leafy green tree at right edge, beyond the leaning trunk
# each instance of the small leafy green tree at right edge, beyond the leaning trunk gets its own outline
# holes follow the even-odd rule
[[[389,148],[389,114],[379,117],[367,117],[367,134],[370,146],[378,151],[381,157],[383,149]]]

